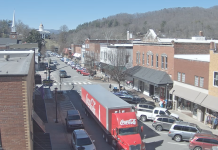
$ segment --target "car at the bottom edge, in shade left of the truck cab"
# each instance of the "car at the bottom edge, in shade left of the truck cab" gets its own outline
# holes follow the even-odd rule
[[[96,150],[88,133],[83,129],[74,130],[71,136],[71,144],[74,150]]]

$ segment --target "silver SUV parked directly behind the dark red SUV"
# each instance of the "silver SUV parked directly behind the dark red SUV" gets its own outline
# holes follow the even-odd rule
[[[196,133],[209,133],[211,131],[203,130],[198,125],[189,122],[175,122],[172,124],[168,136],[174,139],[176,142],[182,140],[189,140]]]

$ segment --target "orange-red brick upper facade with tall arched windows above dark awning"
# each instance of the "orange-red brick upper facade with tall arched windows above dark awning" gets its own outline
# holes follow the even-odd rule
[[[147,65],[147,52],[151,51],[153,53],[153,67],[151,66],[151,55],[149,55],[149,65]],[[136,64],[136,53],[140,52],[140,66],[152,68],[155,70],[165,71],[172,79],[174,77],[174,48],[172,46],[163,46],[163,45],[133,45],[133,66]],[[144,65],[142,63],[142,57],[144,53]],[[156,55],[158,54],[158,67],[156,67]],[[161,55],[166,54],[168,58],[168,67],[167,69],[161,68]]]

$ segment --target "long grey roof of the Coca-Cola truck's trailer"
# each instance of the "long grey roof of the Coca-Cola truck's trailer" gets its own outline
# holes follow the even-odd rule
[[[113,93],[98,84],[82,86],[90,95],[94,97],[102,106],[108,109],[126,107],[131,108],[132,105],[120,99]]]

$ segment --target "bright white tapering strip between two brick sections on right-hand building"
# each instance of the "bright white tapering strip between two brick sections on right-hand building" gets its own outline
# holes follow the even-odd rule
[[[206,55],[174,55],[174,58],[210,62],[210,54]]]

